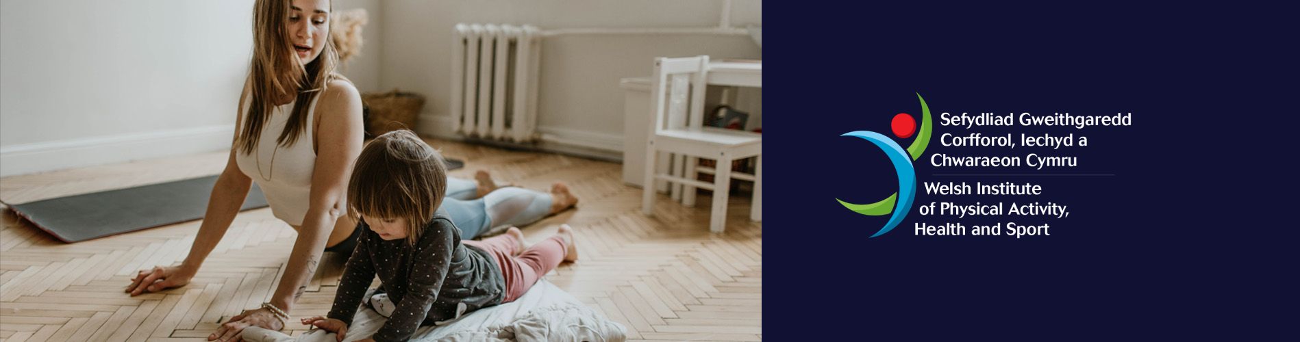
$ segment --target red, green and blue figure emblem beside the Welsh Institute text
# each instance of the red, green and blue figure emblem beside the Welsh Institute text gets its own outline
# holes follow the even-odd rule
[[[835,199],[838,200],[845,208],[861,215],[884,216],[893,213],[889,216],[889,221],[885,222],[885,226],[881,228],[880,231],[876,231],[876,234],[871,235],[872,238],[884,235],[885,233],[889,233],[889,230],[894,229],[894,226],[898,226],[898,224],[902,222],[902,218],[907,216],[907,212],[911,211],[911,202],[916,199],[916,170],[911,163],[926,152],[926,146],[930,146],[930,131],[932,130],[930,107],[926,105],[926,99],[920,98],[920,94],[916,94],[916,99],[920,100],[919,131],[916,131],[916,121],[907,113],[898,113],[894,116],[893,121],[889,122],[890,130],[898,138],[910,138],[911,134],[916,131],[916,139],[911,142],[911,146],[907,146],[907,150],[902,150],[902,147],[893,139],[875,131],[858,130],[840,135],[858,137],[876,144],[876,147],[885,151],[885,156],[889,156],[889,161],[893,163],[894,170],[898,173],[898,192],[894,192],[880,202],[871,204],[853,204],[841,199]]]

